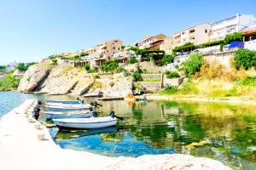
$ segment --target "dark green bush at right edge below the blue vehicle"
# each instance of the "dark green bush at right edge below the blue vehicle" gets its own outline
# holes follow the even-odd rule
[[[234,59],[236,69],[243,67],[247,70],[256,66],[256,51],[240,48],[236,51]]]

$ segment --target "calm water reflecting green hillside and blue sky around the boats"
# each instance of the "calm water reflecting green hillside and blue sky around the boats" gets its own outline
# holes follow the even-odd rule
[[[17,93],[0,95],[0,114],[18,105],[18,100],[35,97]],[[43,100],[73,98],[36,97]],[[5,111],[2,102],[7,105]],[[108,101],[102,104],[100,116],[115,111],[125,120],[119,121],[117,127],[90,131],[58,131],[47,122],[55,143],[64,149],[106,156],[183,153],[223,161],[235,169],[256,169],[256,106],[173,101]]]

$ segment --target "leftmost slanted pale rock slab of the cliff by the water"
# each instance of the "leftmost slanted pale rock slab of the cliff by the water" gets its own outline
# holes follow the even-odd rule
[[[38,88],[44,78],[48,76],[51,67],[45,65],[32,65],[21,78],[18,91],[32,92]]]

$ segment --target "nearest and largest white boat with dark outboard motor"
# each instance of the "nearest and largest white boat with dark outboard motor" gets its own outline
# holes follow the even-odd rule
[[[57,127],[68,128],[101,128],[112,127],[117,123],[117,118],[113,116],[90,117],[90,118],[67,118],[53,119]]]

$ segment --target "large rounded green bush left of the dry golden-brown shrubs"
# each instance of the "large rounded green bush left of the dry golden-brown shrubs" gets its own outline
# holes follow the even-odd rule
[[[201,54],[191,54],[190,59],[183,63],[183,71],[186,77],[195,75],[196,72],[200,71],[201,65],[204,60]]]

